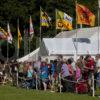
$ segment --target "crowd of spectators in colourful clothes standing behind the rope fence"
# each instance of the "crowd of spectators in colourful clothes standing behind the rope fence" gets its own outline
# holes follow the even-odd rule
[[[94,78],[94,79],[93,79]],[[61,55],[48,62],[48,59],[33,62],[0,63],[0,84],[11,82],[13,86],[27,89],[49,89],[51,92],[90,93],[100,88],[100,54],[72,57]]]

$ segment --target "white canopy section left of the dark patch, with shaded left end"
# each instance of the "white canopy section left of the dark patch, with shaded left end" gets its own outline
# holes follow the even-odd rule
[[[74,53],[75,47],[71,38],[44,38],[40,47],[40,54],[42,56],[73,55]]]

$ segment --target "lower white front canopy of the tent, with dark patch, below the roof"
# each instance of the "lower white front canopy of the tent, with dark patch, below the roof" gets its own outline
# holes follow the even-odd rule
[[[99,46],[100,48],[100,46]],[[44,38],[40,47],[41,56],[78,55],[98,53],[98,39],[91,38]]]

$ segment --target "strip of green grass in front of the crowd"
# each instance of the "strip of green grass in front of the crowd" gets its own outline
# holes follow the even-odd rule
[[[51,93],[26,90],[11,86],[0,86],[0,100],[100,100],[86,94]]]

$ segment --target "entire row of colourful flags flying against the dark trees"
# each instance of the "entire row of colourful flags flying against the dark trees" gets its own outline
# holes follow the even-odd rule
[[[76,14],[77,14],[77,24],[85,24],[94,26],[95,25],[95,15],[85,6],[76,4]],[[56,10],[56,29],[61,30],[72,30],[73,29],[73,18],[70,17],[68,14],[66,14],[63,11]],[[32,38],[34,36],[34,28],[32,23],[32,18],[30,16],[30,37]],[[48,16],[48,14],[43,11],[41,8],[40,11],[40,26],[49,27],[51,25],[51,17]],[[12,43],[13,37],[10,31],[9,23],[7,24],[7,32],[0,27],[0,38],[7,40],[9,43]],[[21,47],[21,41],[22,36],[19,29],[18,24],[18,49]]]

